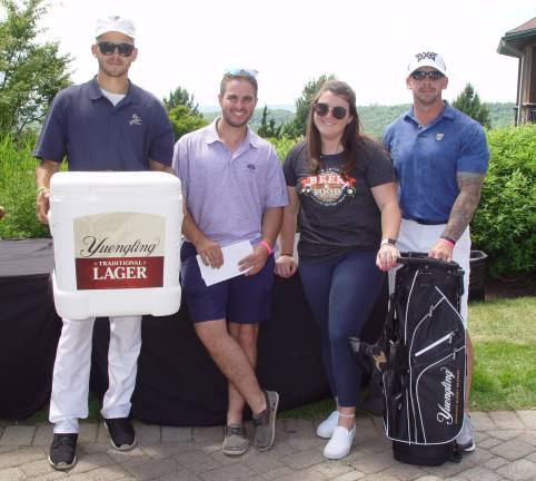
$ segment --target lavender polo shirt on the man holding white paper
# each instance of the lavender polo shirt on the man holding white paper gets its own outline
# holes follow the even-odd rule
[[[220,246],[261,239],[262,213],[288,205],[274,147],[248,127],[235,153],[219,139],[217,119],[175,146],[173,168],[199,229]]]

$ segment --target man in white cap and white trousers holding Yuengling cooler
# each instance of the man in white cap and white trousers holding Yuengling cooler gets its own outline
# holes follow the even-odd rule
[[[136,60],[136,31],[129,19],[108,17],[97,23],[91,47],[99,70],[90,81],[61,90],[54,98],[33,155],[38,219],[47,223],[50,178],[63,158],[69,170],[165,170],[170,168],[173,131],[161,102],[128,79]],[[88,416],[91,335],[95,318],[63,318],[50,400],[54,438],[49,461],[68,470],[77,461],[78,419]],[[109,387],[101,414],[117,450],[135,446],[128,416],[141,347],[141,316],[110,317]]]

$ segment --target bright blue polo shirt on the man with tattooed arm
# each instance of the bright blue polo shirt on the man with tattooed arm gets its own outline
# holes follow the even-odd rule
[[[384,134],[399,187],[404,218],[446,224],[459,194],[458,171],[484,174],[489,151],[480,124],[447,102],[427,126],[419,125],[413,107]]]

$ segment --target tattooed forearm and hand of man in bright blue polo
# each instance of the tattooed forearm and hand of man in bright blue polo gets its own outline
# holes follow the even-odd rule
[[[484,174],[458,171],[456,180],[459,187],[458,197],[453,205],[447,226],[441,236],[458,240],[473,219],[473,215],[480,202],[480,189],[484,183]],[[453,249],[448,240],[439,238],[431,247],[428,255],[444,261],[453,259]]]

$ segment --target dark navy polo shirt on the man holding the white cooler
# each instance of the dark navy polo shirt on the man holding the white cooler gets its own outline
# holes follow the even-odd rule
[[[149,159],[170,166],[173,130],[160,101],[129,82],[113,106],[96,78],[61,90],[52,101],[33,156],[69,170],[148,170]]]

